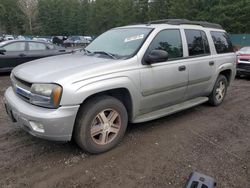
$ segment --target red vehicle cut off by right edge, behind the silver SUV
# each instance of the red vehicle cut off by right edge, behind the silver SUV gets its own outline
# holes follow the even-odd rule
[[[237,75],[250,76],[250,47],[238,51]]]

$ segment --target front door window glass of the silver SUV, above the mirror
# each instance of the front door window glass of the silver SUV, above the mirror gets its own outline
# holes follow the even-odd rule
[[[148,48],[148,51],[152,50],[168,52],[169,59],[183,57],[180,31],[178,29],[169,29],[159,32]]]

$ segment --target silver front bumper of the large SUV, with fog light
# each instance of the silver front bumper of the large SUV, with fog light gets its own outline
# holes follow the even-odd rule
[[[4,94],[4,104],[12,121],[31,135],[47,140],[71,140],[79,105],[58,109],[38,107],[23,101],[11,87]],[[42,129],[37,129],[36,125]]]

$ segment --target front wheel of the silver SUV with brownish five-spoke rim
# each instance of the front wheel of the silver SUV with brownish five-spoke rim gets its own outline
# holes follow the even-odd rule
[[[127,110],[121,101],[111,96],[98,96],[80,108],[74,138],[84,151],[106,152],[122,140],[127,124]]]

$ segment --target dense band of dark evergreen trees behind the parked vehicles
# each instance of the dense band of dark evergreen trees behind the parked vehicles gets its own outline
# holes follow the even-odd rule
[[[250,0],[0,0],[1,29],[12,34],[99,35],[150,20],[185,18],[250,33]]]

